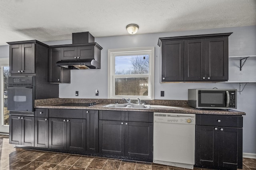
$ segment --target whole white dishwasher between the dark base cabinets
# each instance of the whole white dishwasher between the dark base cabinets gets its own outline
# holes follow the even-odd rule
[[[154,113],[153,162],[193,169],[196,115]]]

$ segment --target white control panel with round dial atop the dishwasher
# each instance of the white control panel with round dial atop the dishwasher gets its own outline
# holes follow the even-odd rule
[[[186,113],[154,113],[154,122],[177,123],[177,124],[196,124],[195,114]]]

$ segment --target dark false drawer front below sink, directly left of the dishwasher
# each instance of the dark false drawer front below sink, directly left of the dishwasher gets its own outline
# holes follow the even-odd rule
[[[153,112],[129,111],[128,121],[153,122]]]

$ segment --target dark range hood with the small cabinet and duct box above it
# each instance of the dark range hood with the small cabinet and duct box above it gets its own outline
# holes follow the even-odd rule
[[[56,66],[68,69],[100,68],[102,47],[94,42],[94,37],[89,32],[72,33],[72,44],[52,47],[61,49],[61,60]]]

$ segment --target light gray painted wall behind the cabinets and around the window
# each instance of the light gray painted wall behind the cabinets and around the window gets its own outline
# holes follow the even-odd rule
[[[60,98],[108,98],[108,49],[155,47],[155,99],[188,100],[189,88],[235,88],[239,91],[239,83],[160,83],[160,48],[159,37],[182,35],[198,35],[209,33],[233,32],[229,37],[229,56],[256,55],[256,25],[246,27],[230,27],[220,29],[204,29],[193,31],[153,33],[142,35],[126,35],[115,37],[98,37],[95,42],[103,47],[101,51],[101,69],[71,70],[71,83],[60,84]],[[72,40],[44,42],[48,45],[71,44]],[[0,57],[7,57],[8,46],[0,46]],[[239,60],[229,61],[230,81],[256,82],[256,59],[249,59],[239,70]],[[242,84],[242,87],[245,84]],[[95,96],[95,89],[99,96]],[[79,96],[75,96],[79,91]],[[165,96],[160,97],[160,91]],[[247,84],[244,91],[238,93],[238,110],[246,112],[244,116],[243,152],[256,154],[256,83]]]

